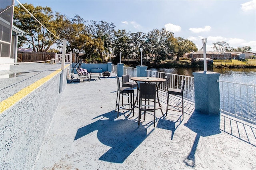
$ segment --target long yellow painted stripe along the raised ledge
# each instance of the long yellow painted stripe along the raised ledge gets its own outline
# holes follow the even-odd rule
[[[68,66],[69,65],[66,65],[66,67],[68,67]],[[14,95],[9,97],[8,99],[5,99],[4,101],[1,101],[0,102],[0,114],[3,113],[4,111],[6,111],[7,109],[9,109],[12,105],[14,105],[18,101],[20,101],[26,95],[28,95],[29,93],[31,93],[32,91],[34,91],[35,89],[40,87],[45,82],[49,81],[52,77],[54,77],[55,75],[57,75],[60,72],[61,72],[61,69],[58,69],[58,70],[54,71],[53,73],[51,73],[50,75],[36,81],[35,83],[29,85],[28,87],[25,87],[21,91],[15,93]]]

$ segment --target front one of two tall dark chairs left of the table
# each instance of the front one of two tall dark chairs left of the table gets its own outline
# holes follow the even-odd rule
[[[131,87],[120,87],[120,80],[119,77],[116,76],[117,80],[117,94],[116,94],[116,109],[118,107],[117,111],[117,117],[119,116],[119,111],[120,110],[132,110],[133,111],[133,116],[134,116],[134,89]],[[122,104],[120,104],[120,95],[122,94]],[[123,95],[128,95],[128,104],[124,104],[124,97]],[[125,105],[129,105],[129,109],[123,108]],[[121,107],[120,107],[121,106]],[[120,109],[122,108],[122,109]],[[116,111],[115,109],[115,111]]]

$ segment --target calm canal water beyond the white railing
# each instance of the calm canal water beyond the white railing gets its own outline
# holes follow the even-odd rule
[[[152,71],[160,71],[165,73],[172,73],[172,74],[178,74],[178,75],[186,75],[186,76],[192,76],[192,73],[194,71],[203,71],[203,69],[197,69],[197,68],[173,68],[173,69],[149,69]],[[220,81],[229,81],[233,83],[242,83],[247,85],[256,85],[256,69],[229,69],[229,68],[214,68],[209,69],[207,71],[213,71],[216,73],[220,73],[219,80]],[[222,90],[222,88],[224,90]],[[235,89],[235,91],[241,91],[241,94],[235,94],[234,99],[234,93],[228,92],[227,84],[223,87],[220,87],[220,107],[222,110],[230,112],[232,114],[236,114],[238,116],[246,117],[248,119],[251,119],[253,121],[256,121],[256,96],[255,89],[253,87],[250,87],[248,89],[246,88],[240,88],[239,85],[229,85],[229,88],[232,91]],[[223,94],[222,95],[222,91]],[[229,93],[230,97],[227,97]],[[226,97],[222,99],[222,96]],[[230,100],[228,104],[228,100]],[[248,102],[248,100],[250,102]]]

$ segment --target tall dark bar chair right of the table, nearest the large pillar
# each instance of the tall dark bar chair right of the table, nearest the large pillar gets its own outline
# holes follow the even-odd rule
[[[173,89],[173,88],[169,88],[168,89],[168,92],[167,92],[168,93],[167,105],[166,105],[166,116],[167,116],[168,110],[178,111],[178,112],[182,112],[182,120],[184,119],[184,97],[183,97],[183,91],[184,91],[185,84],[186,84],[186,80],[184,79],[182,81],[182,89]],[[182,96],[182,106],[169,105],[169,95],[170,94]],[[176,107],[182,108],[182,111],[180,111],[178,108],[177,109],[168,109],[169,106],[174,107],[174,108],[176,108]]]

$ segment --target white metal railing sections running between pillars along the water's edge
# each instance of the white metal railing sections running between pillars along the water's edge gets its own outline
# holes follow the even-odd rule
[[[117,65],[112,65],[112,72],[117,73]],[[166,79],[159,87],[181,89],[185,79],[184,98],[194,102],[194,77],[146,70],[148,77]],[[124,74],[136,77],[136,68],[124,67]],[[220,111],[235,117],[256,123],[256,85],[220,81]]]

